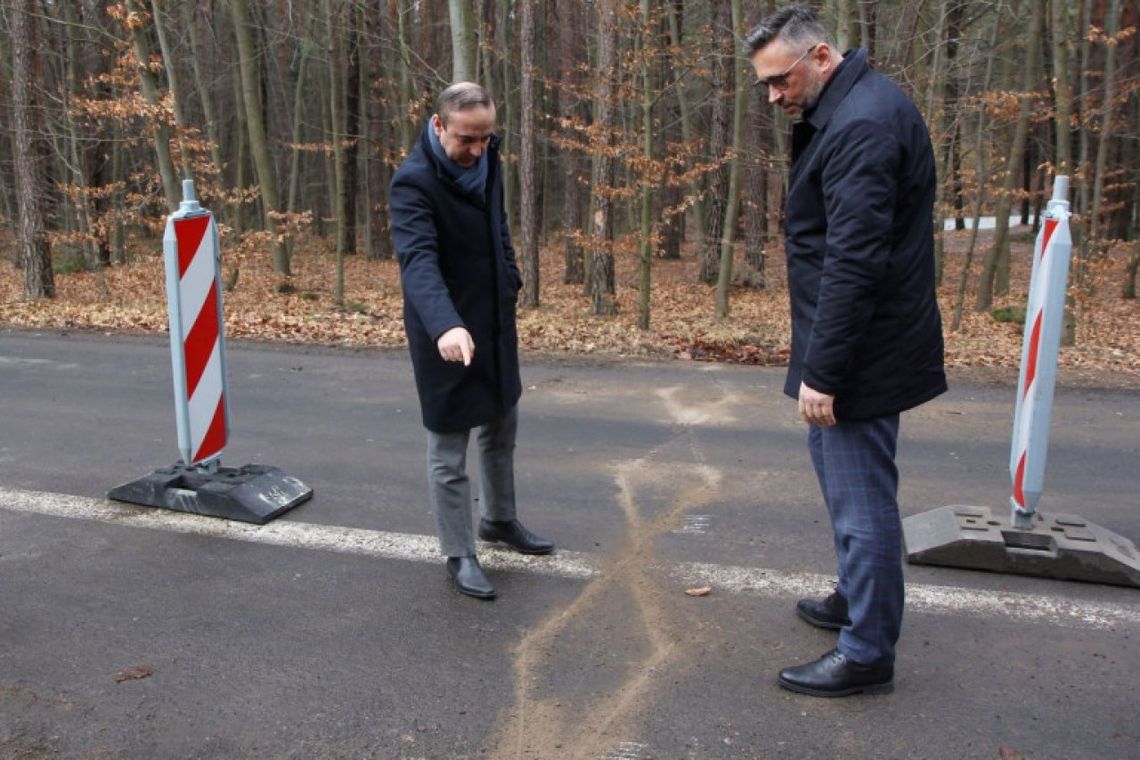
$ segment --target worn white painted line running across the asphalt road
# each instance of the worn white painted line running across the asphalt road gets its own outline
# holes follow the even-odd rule
[[[360,554],[388,559],[440,562],[439,542],[435,537],[415,533],[316,525],[286,520],[276,520],[267,525],[252,525],[106,499],[5,488],[0,488],[0,510],[91,520],[129,528]],[[583,551],[560,549],[552,556],[530,557],[491,546],[480,548],[480,562],[497,570],[524,571],[576,580],[593,578],[600,574],[604,566],[603,558]],[[833,588],[830,577],[817,573],[694,562],[663,565],[661,570],[686,586],[711,586],[715,591],[722,593],[803,597],[825,595]],[[951,586],[909,583],[906,606],[914,612],[999,616],[1017,622],[1067,628],[1113,629],[1119,626],[1140,626],[1140,605],[1105,604],[1059,595],[1013,594]]]

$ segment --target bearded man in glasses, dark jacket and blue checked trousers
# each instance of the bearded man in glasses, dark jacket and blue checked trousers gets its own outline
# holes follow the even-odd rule
[[[834,533],[839,582],[801,599],[834,649],[779,683],[816,696],[889,692],[903,616],[899,412],[946,390],[934,287],[935,164],[910,98],[840,55],[815,14],[789,6],[748,35],[768,101],[797,120],[784,209],[791,360]]]

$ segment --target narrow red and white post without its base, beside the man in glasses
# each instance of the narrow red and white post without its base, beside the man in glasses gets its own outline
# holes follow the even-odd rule
[[[1025,338],[1009,458],[1009,474],[1013,482],[1010,522],[1020,529],[1033,526],[1033,515],[1045,480],[1045,452],[1049,449],[1049,424],[1057,383],[1065,292],[1073,254],[1068,185],[1068,177],[1053,180],[1053,197],[1045,209],[1044,223],[1033,246],[1033,273],[1025,309]]]

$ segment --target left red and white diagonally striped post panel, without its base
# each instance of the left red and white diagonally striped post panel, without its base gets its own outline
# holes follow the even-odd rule
[[[170,313],[178,450],[187,467],[217,465],[229,439],[221,248],[213,214],[198,205],[192,180],[162,238]]]

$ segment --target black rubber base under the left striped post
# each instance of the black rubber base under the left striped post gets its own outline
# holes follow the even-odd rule
[[[267,465],[210,472],[178,463],[117,485],[107,498],[264,525],[312,498],[312,489]]]

